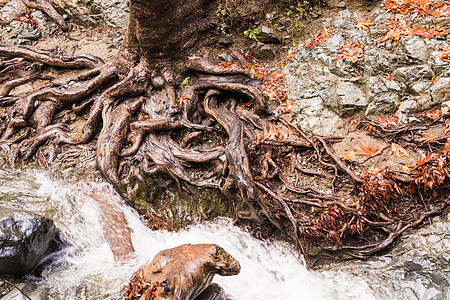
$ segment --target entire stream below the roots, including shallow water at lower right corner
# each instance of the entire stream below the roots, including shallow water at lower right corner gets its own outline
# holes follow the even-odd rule
[[[136,258],[114,261],[99,223],[101,193],[126,216]],[[121,299],[131,274],[160,250],[185,243],[216,243],[241,264],[237,276],[217,276],[235,300],[264,299],[450,299],[450,223],[409,233],[380,257],[329,264],[307,270],[285,243],[260,241],[218,219],[180,232],[151,231],[104,180],[71,178],[43,171],[0,170],[0,206],[33,211],[51,218],[70,246],[58,253],[41,277],[22,283],[32,299]],[[0,300],[25,299],[20,293]]]

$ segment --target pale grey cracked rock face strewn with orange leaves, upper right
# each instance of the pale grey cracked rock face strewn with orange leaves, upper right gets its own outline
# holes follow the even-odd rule
[[[324,20],[328,35],[319,37],[319,43],[310,39],[291,50],[295,55],[284,69],[288,99],[305,131],[333,134],[342,118],[361,111],[396,114],[407,123],[411,114],[450,99],[450,64],[439,59],[439,49],[450,47],[448,36],[447,40],[403,36],[396,46],[377,42],[387,32],[384,22],[390,17],[386,10],[375,9],[367,17],[374,25],[361,28],[361,17],[344,10]],[[450,17],[443,19],[450,22]],[[339,54],[348,45],[360,49],[353,60]]]

